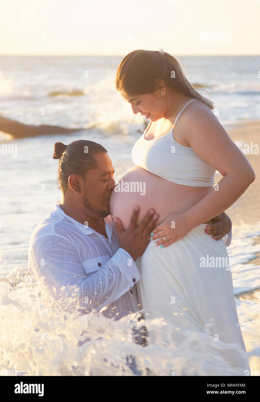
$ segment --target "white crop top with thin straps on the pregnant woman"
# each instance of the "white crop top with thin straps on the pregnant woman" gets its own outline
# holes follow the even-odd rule
[[[193,100],[198,99],[190,100],[184,108]],[[177,115],[169,133],[147,140],[144,136],[151,126],[150,122],[133,146],[132,160],[135,165],[173,183],[192,187],[212,187],[216,169],[202,160],[192,148],[180,145],[173,138],[173,129],[184,108]]]

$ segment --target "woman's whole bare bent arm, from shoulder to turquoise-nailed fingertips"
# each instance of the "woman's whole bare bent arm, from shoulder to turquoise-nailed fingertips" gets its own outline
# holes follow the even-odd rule
[[[169,215],[153,233],[153,239],[166,236],[157,245],[169,246],[186,236],[190,230],[223,213],[246,191],[255,179],[254,170],[231,141],[218,119],[204,104],[185,113],[185,137],[182,137],[200,158],[214,166],[223,178],[188,211]]]

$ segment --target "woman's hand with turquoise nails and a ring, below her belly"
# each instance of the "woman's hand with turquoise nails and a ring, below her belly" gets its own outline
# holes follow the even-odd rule
[[[164,221],[157,225],[151,233],[151,239],[159,239],[155,244],[161,247],[167,247],[170,244],[182,239],[186,234],[192,230],[189,222],[187,221],[185,213],[172,213],[168,215]],[[166,240],[163,238],[165,236]]]

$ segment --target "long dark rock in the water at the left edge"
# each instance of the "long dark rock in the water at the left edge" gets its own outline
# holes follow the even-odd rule
[[[83,128],[65,128],[51,125],[28,125],[0,116],[0,131],[12,135],[14,138],[35,137],[36,135],[51,135],[74,133]]]

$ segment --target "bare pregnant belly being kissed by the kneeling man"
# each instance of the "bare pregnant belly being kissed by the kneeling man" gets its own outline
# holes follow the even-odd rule
[[[133,166],[119,180],[120,191],[110,197],[111,217],[118,217],[128,228],[135,205],[139,205],[137,224],[151,208],[159,214],[158,224],[170,213],[184,212],[198,203],[212,187],[182,186],[165,180],[140,166]]]

